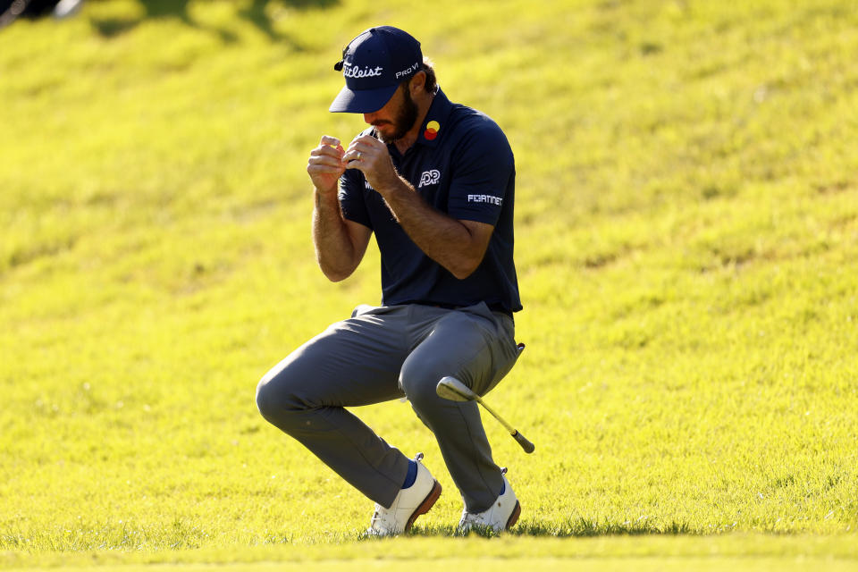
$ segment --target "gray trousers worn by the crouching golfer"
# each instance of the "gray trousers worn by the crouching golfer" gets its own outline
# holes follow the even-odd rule
[[[419,305],[357,307],[265,374],[257,407],[328,467],[388,507],[408,473],[408,458],[345,408],[407,396],[434,433],[467,510],[488,509],[501,493],[473,401],[439,398],[452,375],[476,393],[490,391],[517,359],[515,326],[484,303],[450,310]]]

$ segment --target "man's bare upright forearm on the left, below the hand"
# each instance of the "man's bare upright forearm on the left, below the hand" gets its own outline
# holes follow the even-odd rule
[[[313,198],[315,259],[329,280],[339,282],[348,278],[357,267],[355,247],[342,218],[336,193],[314,190]]]

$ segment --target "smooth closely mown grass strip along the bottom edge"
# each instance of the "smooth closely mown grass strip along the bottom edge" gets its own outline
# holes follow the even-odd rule
[[[458,539],[454,544],[430,538],[369,543],[288,544],[235,551],[234,547],[197,551],[54,553],[41,555],[44,568],[132,572],[153,564],[192,572],[217,568],[260,572],[301,569],[497,568],[559,570],[854,570],[854,537],[772,536],[731,534],[707,537],[618,537],[587,539],[522,538]],[[10,560],[15,569],[26,558]]]

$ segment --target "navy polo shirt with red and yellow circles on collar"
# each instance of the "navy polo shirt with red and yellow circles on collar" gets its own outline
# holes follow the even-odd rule
[[[374,129],[362,134],[374,135]],[[459,280],[408,238],[364,173],[347,170],[340,180],[343,215],[374,231],[382,255],[382,303],[472,306],[485,302],[509,312],[521,309],[513,264],[516,167],[506,136],[487,115],[450,103],[441,89],[416,142],[405,154],[388,145],[397,172],[424,200],[458,220],[494,225],[483,262]]]

